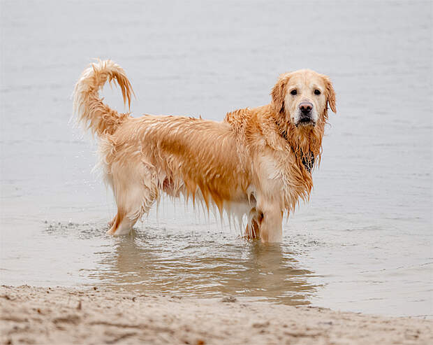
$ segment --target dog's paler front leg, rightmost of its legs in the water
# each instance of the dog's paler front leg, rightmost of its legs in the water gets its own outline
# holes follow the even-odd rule
[[[277,205],[267,205],[261,209],[263,218],[259,223],[260,239],[263,243],[281,242],[283,239],[283,212]]]

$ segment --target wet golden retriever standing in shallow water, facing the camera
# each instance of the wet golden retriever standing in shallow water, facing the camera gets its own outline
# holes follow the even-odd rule
[[[131,83],[111,60],[85,69],[73,94],[78,120],[100,138],[103,174],[115,195],[108,234],[128,234],[165,192],[217,206],[221,215],[236,209],[247,214],[247,237],[281,241],[284,213],[309,199],[328,105],[336,112],[328,76],[281,74],[270,104],[232,111],[222,122],[118,113],[98,95],[113,79],[130,106]]]

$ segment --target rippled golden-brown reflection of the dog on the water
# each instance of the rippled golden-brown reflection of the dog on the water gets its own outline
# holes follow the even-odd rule
[[[90,273],[104,285],[198,297],[261,297],[284,304],[308,304],[316,288],[307,283],[311,272],[297,268],[293,253],[281,244],[149,228],[116,241],[110,252],[97,253],[100,265]]]

